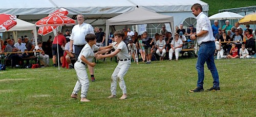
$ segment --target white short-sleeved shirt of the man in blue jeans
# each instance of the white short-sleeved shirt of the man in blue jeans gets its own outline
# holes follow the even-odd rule
[[[207,41],[215,41],[214,34],[212,33],[212,28],[210,25],[210,20],[203,12],[197,16],[197,34],[201,31],[208,31],[208,33],[197,37],[198,44]]]

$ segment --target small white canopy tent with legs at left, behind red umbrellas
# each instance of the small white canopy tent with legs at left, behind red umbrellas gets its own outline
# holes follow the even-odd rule
[[[13,32],[14,41],[17,42],[17,31],[33,31],[35,44],[37,45],[37,31],[36,26],[33,23],[23,21],[21,19],[16,19],[17,25],[13,26],[10,30],[7,32]]]

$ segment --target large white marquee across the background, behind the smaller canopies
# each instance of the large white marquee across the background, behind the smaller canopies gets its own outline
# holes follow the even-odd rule
[[[69,11],[68,17],[75,18],[77,14],[83,14],[86,19],[105,20],[132,11],[138,6],[159,14],[174,16],[174,24],[179,25],[189,17],[195,18],[191,13],[191,6],[195,3],[201,4],[204,14],[208,14],[208,4],[199,0],[148,0],[146,2],[144,0],[95,0],[86,2],[71,2],[69,0],[61,0],[61,2],[58,0],[2,0],[1,4],[3,6],[0,8],[0,13],[17,15],[19,19],[25,21],[38,21],[59,8],[65,8]],[[105,24],[104,21],[101,21],[101,24],[98,22],[94,24],[96,22],[94,20],[91,21],[92,25]]]

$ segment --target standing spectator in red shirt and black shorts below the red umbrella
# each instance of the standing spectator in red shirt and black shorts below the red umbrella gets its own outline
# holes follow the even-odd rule
[[[57,39],[58,39],[58,44],[57,44]],[[58,57],[60,58],[60,66],[62,64],[63,60],[63,49],[61,46],[65,47],[65,44],[67,43],[66,38],[63,36],[62,32],[58,32],[57,36],[54,37],[53,42],[52,42],[52,61],[53,61],[53,66],[57,67],[56,65],[56,55],[58,54]],[[59,52],[57,53],[57,48],[59,49]]]

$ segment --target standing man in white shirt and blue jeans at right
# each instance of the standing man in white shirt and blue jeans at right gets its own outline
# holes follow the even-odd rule
[[[212,86],[208,91],[220,91],[219,86],[219,74],[214,63],[214,53],[215,53],[215,38],[212,34],[212,28],[210,25],[209,18],[203,14],[203,8],[200,4],[194,4],[191,7],[192,13],[197,19],[197,34],[192,35],[191,39],[197,39],[200,49],[198,51],[197,60],[197,71],[198,71],[198,82],[197,87],[194,90],[189,90],[189,92],[202,92],[204,83],[204,64],[206,62],[208,69],[214,78],[214,86]]]

